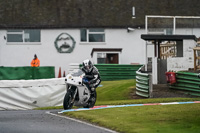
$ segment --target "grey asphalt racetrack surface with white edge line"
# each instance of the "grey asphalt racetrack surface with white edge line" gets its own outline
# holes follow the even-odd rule
[[[0,111],[0,133],[113,133],[54,114],[59,110]],[[52,112],[52,113],[51,113]]]

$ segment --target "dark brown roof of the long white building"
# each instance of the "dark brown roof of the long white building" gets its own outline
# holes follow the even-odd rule
[[[0,0],[0,28],[144,28],[145,15],[199,16],[199,4],[199,0]],[[192,25],[200,27],[200,22]]]

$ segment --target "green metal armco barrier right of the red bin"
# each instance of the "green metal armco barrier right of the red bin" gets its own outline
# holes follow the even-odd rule
[[[200,75],[191,72],[176,72],[176,83],[170,85],[171,89],[183,90],[185,93],[200,96]]]

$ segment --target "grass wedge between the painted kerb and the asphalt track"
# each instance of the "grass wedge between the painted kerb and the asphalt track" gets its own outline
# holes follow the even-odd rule
[[[200,131],[200,105],[157,105],[69,112],[123,133],[197,133]]]

